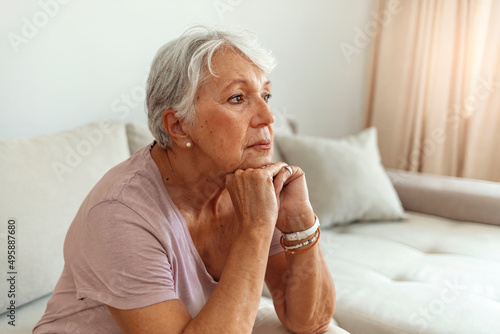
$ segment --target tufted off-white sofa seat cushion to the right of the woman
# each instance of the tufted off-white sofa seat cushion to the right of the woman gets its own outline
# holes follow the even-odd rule
[[[407,213],[403,222],[323,229],[350,333],[498,333],[500,227]]]

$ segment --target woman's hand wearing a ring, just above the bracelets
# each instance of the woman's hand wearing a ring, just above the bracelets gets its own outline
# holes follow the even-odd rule
[[[310,227],[314,223],[314,211],[302,169],[285,166],[275,175],[273,183],[279,208],[276,227],[283,233]]]

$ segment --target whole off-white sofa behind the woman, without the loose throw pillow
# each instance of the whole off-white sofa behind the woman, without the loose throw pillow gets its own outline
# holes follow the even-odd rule
[[[145,125],[116,121],[0,140],[0,243],[8,244],[9,221],[16,238],[13,270],[6,267],[6,247],[0,251],[5,275],[15,272],[16,281],[10,298],[11,286],[1,280],[2,310],[11,300],[16,304],[16,326],[4,312],[1,333],[31,332],[62,271],[64,236],[83,198],[109,168],[150,140]],[[286,149],[281,153],[287,156]],[[404,220],[322,228],[339,326],[353,334],[499,333],[500,184],[388,174],[411,210]],[[259,327],[285,333],[266,295],[255,333]],[[345,333],[333,325],[330,332]]]

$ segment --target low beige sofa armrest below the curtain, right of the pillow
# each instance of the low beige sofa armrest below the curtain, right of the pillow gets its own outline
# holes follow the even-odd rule
[[[500,225],[500,183],[386,168],[405,210]]]

